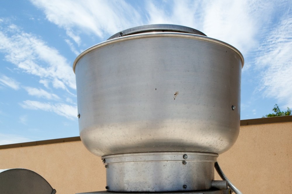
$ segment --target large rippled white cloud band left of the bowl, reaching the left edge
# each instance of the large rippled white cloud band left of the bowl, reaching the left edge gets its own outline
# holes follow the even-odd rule
[[[22,71],[52,82],[54,88],[76,89],[71,64],[58,50],[32,34],[0,32],[0,52]]]

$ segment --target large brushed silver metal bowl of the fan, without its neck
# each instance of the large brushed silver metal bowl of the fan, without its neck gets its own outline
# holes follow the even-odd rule
[[[239,134],[243,63],[229,44],[186,33],[88,48],[73,65],[81,140],[98,156],[223,153]]]

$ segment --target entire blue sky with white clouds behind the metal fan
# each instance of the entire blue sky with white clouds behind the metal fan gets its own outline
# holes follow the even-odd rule
[[[138,25],[185,25],[237,48],[241,119],[292,108],[291,1],[0,2],[0,145],[79,135],[72,63]]]

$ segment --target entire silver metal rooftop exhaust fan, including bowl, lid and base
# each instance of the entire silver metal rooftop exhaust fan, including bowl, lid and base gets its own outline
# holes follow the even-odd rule
[[[133,27],[82,52],[80,138],[102,157],[107,191],[230,193],[214,163],[239,134],[243,65],[233,46],[178,25]]]

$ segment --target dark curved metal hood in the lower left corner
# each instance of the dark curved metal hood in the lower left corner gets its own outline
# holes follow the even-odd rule
[[[0,193],[55,194],[56,190],[36,172],[13,168],[0,170]]]

